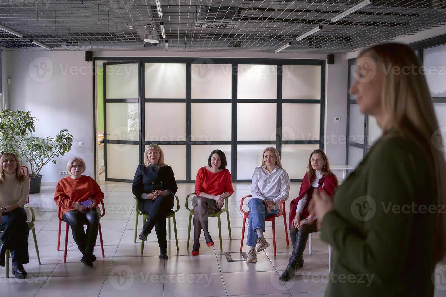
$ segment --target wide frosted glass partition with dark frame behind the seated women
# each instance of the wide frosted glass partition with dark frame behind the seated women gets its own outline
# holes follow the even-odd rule
[[[310,152],[322,148],[324,87],[325,60],[104,63],[105,178],[132,181],[156,143],[178,182],[194,182],[215,149],[225,153],[234,182],[250,181],[267,146],[300,181]]]

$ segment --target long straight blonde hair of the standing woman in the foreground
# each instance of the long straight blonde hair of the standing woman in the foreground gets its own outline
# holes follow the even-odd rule
[[[375,45],[365,49],[361,55],[364,53],[371,54],[382,75],[381,104],[385,115],[381,128],[387,131],[394,127],[405,138],[417,143],[434,173],[436,202],[438,205],[446,204],[445,159],[442,151],[437,149],[441,147],[441,139],[433,137],[438,130],[438,122],[425,76],[422,72],[413,73],[413,70],[410,73],[401,71],[404,75],[385,70],[388,67],[403,70],[409,67],[418,71],[421,69],[420,61],[409,46],[399,43]],[[438,213],[436,220],[434,252],[435,260],[440,261],[446,254],[446,215]]]

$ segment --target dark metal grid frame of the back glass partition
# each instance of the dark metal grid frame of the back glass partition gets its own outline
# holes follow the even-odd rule
[[[139,68],[139,98],[138,102],[140,103],[140,130],[139,130],[139,144],[140,144],[140,163],[142,163],[142,155],[144,153],[145,145],[150,143],[157,143],[155,141],[145,141],[145,106],[142,103],[145,102],[185,102],[186,103],[186,180],[178,180],[178,183],[194,183],[194,177],[191,175],[191,162],[192,162],[192,145],[197,144],[227,144],[231,145],[231,175],[233,182],[250,182],[250,179],[237,179],[237,145],[241,144],[265,144],[267,145],[276,145],[279,154],[281,155],[281,147],[284,144],[318,144],[319,148],[323,148],[323,143],[321,139],[323,138],[324,133],[324,110],[325,110],[325,60],[309,60],[309,59],[239,59],[239,58],[211,58],[214,64],[231,64],[232,65],[232,98],[231,99],[192,99],[191,98],[191,73],[190,68],[191,65],[196,61],[197,57],[192,58],[173,58],[173,57],[93,57],[93,98],[94,98],[94,106],[95,106],[95,61],[120,61],[120,62],[106,62],[105,65],[110,64],[125,64],[130,62],[135,62],[140,64]],[[145,83],[144,83],[144,65],[145,63],[182,63],[186,64],[186,98],[185,99],[147,99],[145,98]],[[237,66],[238,64],[262,64],[262,65],[277,65],[277,99],[237,99]],[[282,69],[283,65],[314,65],[321,66],[321,98],[320,100],[306,100],[306,99],[283,99],[282,100]],[[106,121],[106,102],[111,102],[110,100],[114,100],[113,102],[121,102],[120,99],[105,99],[106,93],[106,82],[104,79],[104,124]],[[125,100],[128,99],[122,99]],[[191,129],[192,129],[192,103],[231,103],[231,116],[232,116],[232,135],[231,140],[228,141],[210,141],[210,142],[200,142],[200,141],[191,141]],[[237,103],[276,103],[277,104],[277,115],[276,115],[276,141],[237,141]],[[312,140],[295,140],[295,141],[282,141],[281,139],[281,122],[282,122],[282,104],[283,103],[302,103],[302,104],[320,104],[320,138],[318,141]],[[96,109],[94,108],[94,120],[95,120]],[[96,131],[94,132],[96,138]],[[104,125],[104,135],[106,134],[106,126]],[[117,141],[107,141],[107,143],[114,143]],[[136,144],[136,143],[135,143]],[[180,142],[162,142],[163,145],[169,144],[182,144]],[[107,155],[107,154],[105,154]],[[105,157],[107,158],[107,156]],[[96,151],[95,151],[95,159],[96,159]],[[107,162],[107,159],[105,159]],[[106,163],[107,164],[107,163]],[[260,164],[259,164],[260,165]],[[107,176],[107,166],[106,166],[106,176]],[[254,168],[252,168],[254,170]],[[96,176],[96,162],[95,162],[95,176]],[[131,180],[121,180],[121,179],[107,179],[107,180],[115,180],[115,181],[126,181],[131,182]],[[291,179],[291,181],[300,182],[302,179]]]

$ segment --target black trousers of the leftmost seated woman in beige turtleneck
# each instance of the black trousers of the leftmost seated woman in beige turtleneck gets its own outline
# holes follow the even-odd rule
[[[4,213],[0,221],[0,231],[3,231],[0,240],[11,252],[12,264],[16,266],[29,263],[29,228],[26,219],[25,209],[17,207],[11,212]]]

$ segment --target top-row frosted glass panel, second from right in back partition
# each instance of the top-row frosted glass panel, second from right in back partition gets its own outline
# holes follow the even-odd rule
[[[277,65],[239,64],[237,98],[277,99]]]

